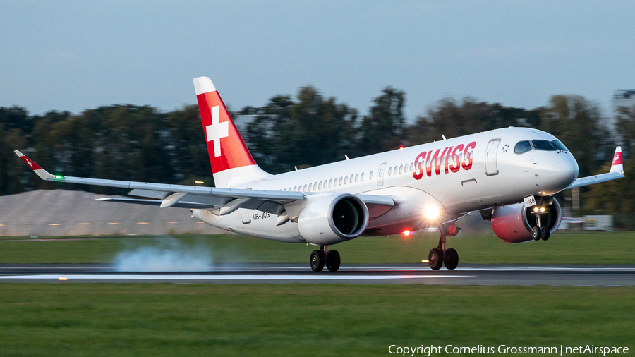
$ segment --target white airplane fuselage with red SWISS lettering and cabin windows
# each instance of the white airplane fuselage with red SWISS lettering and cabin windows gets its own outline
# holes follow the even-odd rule
[[[433,225],[423,217],[429,205],[440,207],[444,217],[452,219],[465,212],[521,202],[528,195],[552,195],[575,181],[578,164],[570,152],[515,153],[516,143],[523,140],[557,139],[536,129],[503,128],[268,176],[237,188],[307,195],[390,195],[396,205],[370,212],[365,235],[416,231]],[[274,214],[258,210],[241,208],[224,216],[194,210],[194,215],[229,231],[305,242],[298,224],[276,226]]]

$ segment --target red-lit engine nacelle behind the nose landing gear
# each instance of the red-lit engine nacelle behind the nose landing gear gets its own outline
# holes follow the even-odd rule
[[[492,212],[492,229],[496,236],[507,243],[533,241],[531,229],[536,226],[536,216],[531,208],[525,207],[524,203],[496,207]],[[543,227],[549,229],[551,234],[560,226],[562,210],[555,199],[545,208],[541,223]]]

